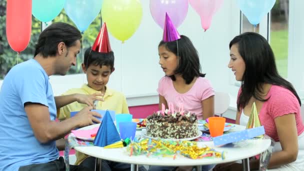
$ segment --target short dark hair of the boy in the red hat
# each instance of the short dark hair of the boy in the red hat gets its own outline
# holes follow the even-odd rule
[[[100,67],[102,65],[110,66],[111,71],[114,70],[114,52],[110,51],[107,53],[97,52],[94,50],[91,50],[91,47],[87,48],[84,52],[84,59],[83,63],[85,65],[85,68],[87,69],[91,64],[93,65],[99,65]]]

